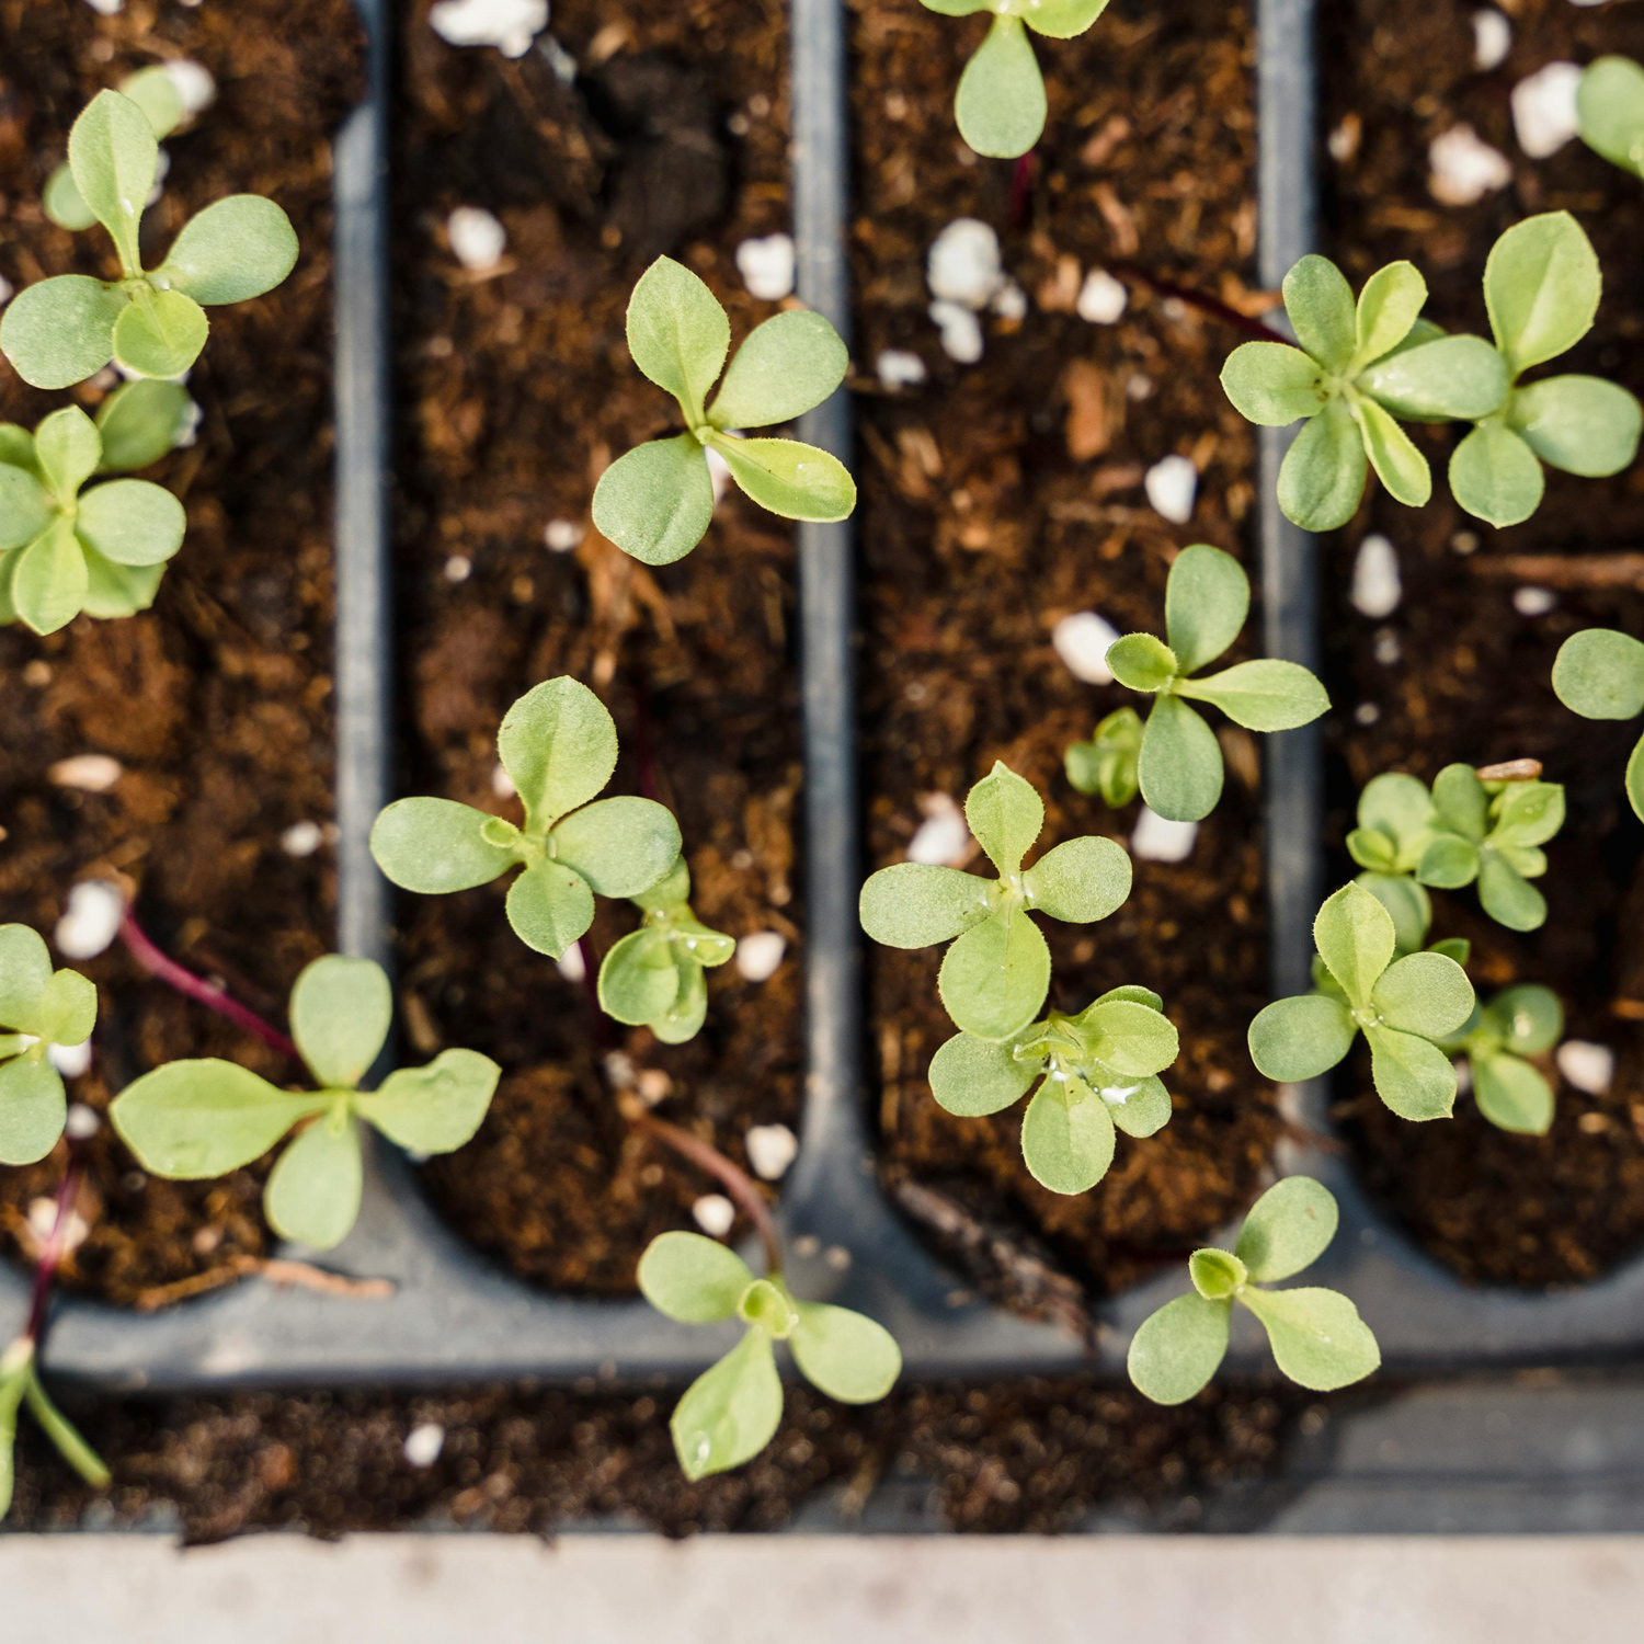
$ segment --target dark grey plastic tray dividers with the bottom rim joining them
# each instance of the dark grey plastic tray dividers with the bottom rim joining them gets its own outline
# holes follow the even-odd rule
[[[390,888],[367,848],[391,797],[393,681],[388,533],[388,64],[386,0],[360,0],[372,31],[370,100],[335,145],[337,199],[337,825],[339,949],[388,958]],[[1261,279],[1277,286],[1314,243],[1315,0],[1258,0]],[[845,7],[792,0],[794,230],[799,293],[850,334]],[[802,437],[848,457],[850,401],[812,411]],[[1312,541],[1287,524],[1274,480],[1287,436],[1263,431],[1261,587],[1271,656],[1312,663]],[[1185,1272],[1129,1291],[1097,1338],[1029,1323],[975,1300],[912,1236],[880,1192],[866,1124],[857,888],[860,804],[853,766],[853,541],[850,524],[799,526],[809,907],[807,1085],[801,1151],[781,1203],[804,1295],[883,1320],[907,1374],[1000,1376],[1095,1365],[1123,1374],[1136,1325],[1185,1287]],[[1323,889],[1317,727],[1268,738],[1268,875],[1272,980],[1307,986],[1312,916]],[[1323,1082],[1287,1092],[1302,1126],[1328,1133]],[[1373,1325],[1389,1373],[1596,1361],[1644,1346],[1644,1263],[1555,1295],[1470,1289],[1394,1231],[1340,1156],[1287,1148],[1281,1169],[1325,1180],[1342,1231],[1314,1269]],[[723,1343],[640,1300],[546,1295],[457,1240],[427,1208],[404,1159],[378,1146],[358,1228],[327,1258],[386,1277],[385,1300],[350,1300],[248,1282],[148,1317],[64,1295],[48,1345],[53,1373],[110,1391],[245,1384],[679,1379]],[[25,1284],[0,1271],[3,1320]],[[1236,1320],[1236,1325],[1240,1320]],[[1259,1368],[1249,1318],[1230,1369]]]

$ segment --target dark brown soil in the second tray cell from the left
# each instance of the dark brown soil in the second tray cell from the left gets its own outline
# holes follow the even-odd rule
[[[403,1003],[418,1052],[464,1044],[506,1069],[478,1138],[424,1172],[452,1221],[515,1272],[631,1291],[646,1243],[694,1226],[713,1184],[630,1134],[613,1088],[733,1159],[751,1124],[797,1126],[802,896],[792,533],[735,490],[707,539],[648,570],[589,521],[593,483],[664,432],[672,401],[631,358],[623,317],[667,253],[725,302],[733,339],[776,312],[748,296],[738,243],[787,227],[787,15],[756,0],[554,8],[572,84],[531,51],[457,51],[408,8],[398,118],[396,327],[404,792],[518,819],[498,797],[496,727],[531,686],[570,674],[610,707],[610,792],[679,817],[707,924],[787,942],[776,975],[710,972],[684,1046],[621,1029],[587,985],[526,949],[500,883],[401,906]],[[503,261],[467,273],[459,206],[493,212]],[[552,551],[551,521],[570,539]],[[564,539],[562,539],[564,544]],[[602,903],[582,952],[635,929]]]

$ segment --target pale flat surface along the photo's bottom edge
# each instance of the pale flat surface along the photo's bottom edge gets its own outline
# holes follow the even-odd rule
[[[1634,1644],[1644,1537],[0,1537],[0,1639]]]

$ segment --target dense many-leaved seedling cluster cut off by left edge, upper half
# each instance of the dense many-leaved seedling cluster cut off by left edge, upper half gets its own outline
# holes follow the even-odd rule
[[[0,621],[56,633],[81,612],[130,616],[153,603],[166,561],[182,546],[182,505],[148,480],[81,492],[100,469],[155,460],[161,427],[168,442],[176,434],[171,395],[181,390],[130,386],[159,395],[109,396],[109,447],[77,406],[53,411],[33,436],[0,423]]]

